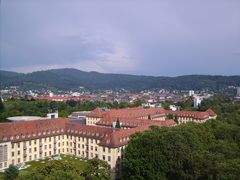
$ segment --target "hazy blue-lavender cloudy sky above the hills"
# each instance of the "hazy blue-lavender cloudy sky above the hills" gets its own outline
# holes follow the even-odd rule
[[[240,75],[239,0],[0,0],[0,69]]]

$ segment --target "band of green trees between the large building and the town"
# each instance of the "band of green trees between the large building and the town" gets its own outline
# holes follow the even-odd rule
[[[11,116],[41,116],[45,117],[49,111],[58,110],[60,117],[67,117],[74,111],[91,111],[96,107],[106,108],[126,108],[136,107],[141,104],[142,101],[136,101],[134,104],[128,103],[105,103],[100,101],[66,101],[55,102],[47,100],[8,100],[4,102],[4,110],[0,113],[0,122],[7,121],[7,117]]]

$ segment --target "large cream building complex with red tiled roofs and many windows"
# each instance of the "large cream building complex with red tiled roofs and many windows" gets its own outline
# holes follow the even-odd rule
[[[210,109],[191,112],[163,108],[97,108],[88,114],[87,125],[74,124],[63,118],[1,123],[0,170],[10,164],[67,154],[86,159],[97,157],[116,172],[121,168],[124,149],[131,135],[153,125],[175,126],[176,120],[167,120],[169,114],[173,114],[178,123],[205,122],[216,118]],[[113,127],[116,121],[120,122],[121,129]]]

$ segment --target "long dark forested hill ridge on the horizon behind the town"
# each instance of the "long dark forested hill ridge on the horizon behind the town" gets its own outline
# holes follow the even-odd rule
[[[54,88],[75,89],[84,86],[96,89],[128,89],[140,91],[153,88],[167,89],[211,89],[218,90],[227,86],[240,86],[240,76],[186,75],[178,77],[154,77],[125,74],[105,74],[85,72],[77,69],[53,69],[33,73],[0,71],[0,88],[20,86],[24,89]]]

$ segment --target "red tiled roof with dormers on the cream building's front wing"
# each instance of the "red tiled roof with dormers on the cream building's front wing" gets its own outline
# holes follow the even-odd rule
[[[68,119],[63,118],[0,123],[0,142],[19,142],[67,134],[94,138],[100,140],[100,145],[119,147],[127,144],[128,140],[126,141],[126,139],[129,139],[133,133],[144,131],[152,125],[169,127],[176,124],[173,120],[149,120],[148,123],[146,123],[146,121],[142,126],[128,130],[71,124]]]

